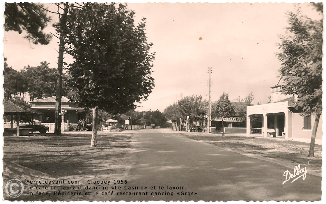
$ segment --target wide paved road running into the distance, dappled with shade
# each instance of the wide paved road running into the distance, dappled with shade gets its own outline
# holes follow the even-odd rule
[[[282,184],[283,173],[288,169],[284,166],[187,139],[170,130],[141,130],[134,134],[136,163],[130,170],[127,185],[147,189],[124,190],[124,185],[120,185],[119,192],[147,191],[147,196],[117,196],[115,190],[114,200],[321,199],[320,177],[307,174],[305,180],[301,177]],[[293,173],[293,169],[289,171]],[[151,186],[156,189],[151,190]],[[164,189],[158,189],[159,186]],[[167,186],[183,186],[183,190],[169,190]],[[152,192],[163,195],[151,195]],[[197,194],[177,195],[178,192]]]

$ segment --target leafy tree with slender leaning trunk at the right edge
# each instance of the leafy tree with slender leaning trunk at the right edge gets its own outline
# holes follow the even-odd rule
[[[289,34],[280,36],[278,44],[281,52],[277,58],[282,62],[279,74],[286,86],[282,92],[297,95],[296,108],[303,116],[316,115],[312,130],[309,157],[314,156],[315,138],[322,112],[322,3],[313,4],[321,14],[319,21],[302,14],[299,7],[288,12]]]

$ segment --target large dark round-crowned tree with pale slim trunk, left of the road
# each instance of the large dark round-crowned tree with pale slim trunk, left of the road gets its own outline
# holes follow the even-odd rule
[[[152,92],[152,43],[146,41],[145,19],[135,26],[135,12],[125,5],[87,3],[83,9],[70,7],[69,14],[64,41],[74,58],[70,84],[79,95],[78,105],[93,108],[96,127],[97,109],[126,112]],[[91,146],[96,146],[96,136],[93,128]]]

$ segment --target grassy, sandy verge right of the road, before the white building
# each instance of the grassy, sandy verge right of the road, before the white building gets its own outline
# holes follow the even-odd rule
[[[179,134],[186,138],[222,147],[228,151],[282,164],[289,168],[293,168],[294,165],[304,164],[309,167],[309,173],[321,176],[321,145],[315,145],[315,157],[308,157],[310,144],[305,142],[246,137],[236,134],[229,134],[225,137],[213,137],[212,134],[206,133],[179,132]]]

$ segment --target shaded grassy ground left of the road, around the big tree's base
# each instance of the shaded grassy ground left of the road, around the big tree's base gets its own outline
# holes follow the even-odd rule
[[[59,185],[86,186],[87,180],[113,182],[114,179],[124,179],[135,157],[132,133],[98,133],[95,148],[90,147],[91,132],[87,133],[4,137],[4,186],[13,178],[22,181],[24,186],[26,180],[73,180],[79,183]],[[28,186],[35,187],[36,184]],[[58,184],[48,184],[49,190],[42,191],[51,194],[53,191],[59,191],[51,190],[53,186]],[[82,196],[64,197],[53,194],[50,197],[36,196],[35,188],[28,191],[33,192],[33,196],[26,196],[25,188],[22,196],[18,198],[11,198],[6,193],[4,198],[7,200],[109,200],[108,196],[85,196],[84,193],[88,192],[85,189],[78,190],[82,192]]]

